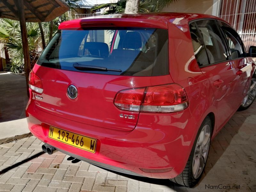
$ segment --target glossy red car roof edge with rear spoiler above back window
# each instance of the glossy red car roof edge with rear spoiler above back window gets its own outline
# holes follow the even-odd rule
[[[173,12],[158,12],[158,13],[138,13],[138,14],[113,14],[100,15],[94,17],[81,18],[62,22],[59,29],[68,28],[83,28],[83,27],[154,27],[168,28],[168,23],[177,25],[185,21],[186,23],[196,19],[218,19],[225,23],[219,17],[199,13],[173,13]]]

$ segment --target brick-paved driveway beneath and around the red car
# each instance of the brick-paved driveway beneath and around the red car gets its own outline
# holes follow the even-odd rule
[[[35,137],[0,145],[0,191],[216,191],[216,185],[222,188],[219,191],[256,191],[256,102],[236,112],[213,140],[204,175],[195,188],[118,175],[82,161],[72,163],[60,152],[42,153],[41,145]],[[232,189],[234,185],[240,189]]]

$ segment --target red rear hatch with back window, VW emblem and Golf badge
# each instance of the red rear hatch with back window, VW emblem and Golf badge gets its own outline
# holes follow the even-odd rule
[[[84,124],[131,131],[139,112],[117,108],[117,92],[172,83],[168,63],[166,29],[62,29],[33,68],[43,86],[43,93],[34,92],[40,96],[34,97],[36,107]]]

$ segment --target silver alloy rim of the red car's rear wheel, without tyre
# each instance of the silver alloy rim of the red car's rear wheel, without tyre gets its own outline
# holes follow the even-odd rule
[[[211,128],[208,124],[204,125],[199,138],[196,142],[196,149],[193,161],[193,176],[197,179],[204,170],[204,165],[208,156],[211,140]]]

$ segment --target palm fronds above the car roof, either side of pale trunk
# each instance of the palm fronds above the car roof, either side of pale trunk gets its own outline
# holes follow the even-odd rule
[[[177,0],[140,0],[139,12],[160,12],[166,5]],[[116,3],[96,4],[91,10],[105,9],[103,15],[124,13],[126,0],[119,0]]]

